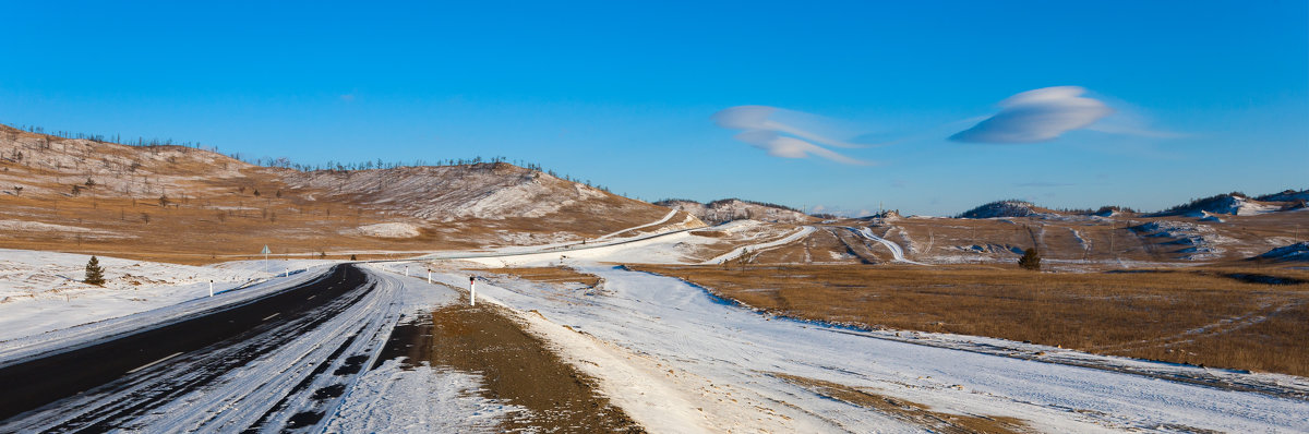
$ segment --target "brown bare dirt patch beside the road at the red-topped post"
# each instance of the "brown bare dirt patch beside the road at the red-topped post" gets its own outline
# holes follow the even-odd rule
[[[530,410],[505,421],[508,433],[644,433],[597,391],[597,382],[565,363],[504,307],[462,303],[398,327],[382,359],[476,373],[487,399]]]

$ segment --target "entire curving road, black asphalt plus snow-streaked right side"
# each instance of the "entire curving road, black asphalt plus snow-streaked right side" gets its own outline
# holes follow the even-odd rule
[[[0,431],[312,429],[376,358],[399,288],[343,264],[202,316],[9,363]]]

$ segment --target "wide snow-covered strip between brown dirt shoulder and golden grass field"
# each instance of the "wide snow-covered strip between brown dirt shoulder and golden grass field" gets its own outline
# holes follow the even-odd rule
[[[603,290],[525,281],[483,285],[600,378],[652,431],[923,431],[772,373],[931,407],[1008,416],[1041,431],[1309,430],[1309,403],[1145,375],[918,345],[775,320],[675,278],[580,265]],[[452,285],[466,276],[442,275]],[[1295,379],[1295,378],[1292,378]]]

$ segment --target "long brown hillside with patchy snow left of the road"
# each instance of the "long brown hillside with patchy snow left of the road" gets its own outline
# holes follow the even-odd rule
[[[581,241],[668,214],[503,162],[297,171],[5,125],[0,204],[0,247],[187,263]]]

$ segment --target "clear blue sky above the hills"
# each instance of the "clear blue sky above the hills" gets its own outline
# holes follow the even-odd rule
[[[0,122],[851,213],[1309,187],[1305,1],[470,4],[4,1]]]

